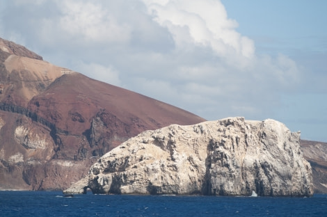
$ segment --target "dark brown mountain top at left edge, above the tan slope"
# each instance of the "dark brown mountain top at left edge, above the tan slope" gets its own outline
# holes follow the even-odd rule
[[[17,45],[15,42],[0,38],[0,49],[7,52],[8,54],[15,54],[17,56],[25,56],[37,60],[43,60],[42,56],[35,54],[22,45]]]

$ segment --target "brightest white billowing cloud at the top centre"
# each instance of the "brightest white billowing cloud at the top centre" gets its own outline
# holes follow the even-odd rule
[[[149,13],[155,16],[154,20],[166,26],[174,35],[177,45],[181,46],[185,38],[191,38],[196,44],[212,47],[220,56],[230,52],[246,57],[254,54],[252,40],[234,31],[238,24],[228,19],[220,1],[144,2]]]

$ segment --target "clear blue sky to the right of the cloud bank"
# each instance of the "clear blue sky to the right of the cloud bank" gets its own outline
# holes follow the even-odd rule
[[[294,93],[281,95],[276,119],[302,138],[327,141],[327,1],[223,0],[237,31],[255,41],[257,53],[285,54],[308,76]]]

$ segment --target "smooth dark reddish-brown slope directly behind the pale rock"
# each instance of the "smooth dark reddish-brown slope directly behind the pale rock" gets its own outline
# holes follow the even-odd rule
[[[192,124],[204,119],[129,90],[95,81],[79,73],[65,74],[44,93],[33,97],[28,108],[56,123],[56,127],[79,134],[90,127],[90,117],[105,113],[106,124],[114,118],[127,124],[126,133],[136,134],[171,123]],[[58,113],[58,115],[56,115]],[[113,121],[113,120],[112,120]],[[74,126],[74,127],[73,127]]]

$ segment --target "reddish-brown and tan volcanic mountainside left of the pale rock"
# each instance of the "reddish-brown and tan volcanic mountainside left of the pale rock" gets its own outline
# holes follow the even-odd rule
[[[0,38],[0,189],[64,189],[147,129],[203,119]]]

